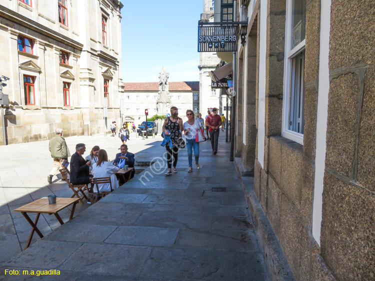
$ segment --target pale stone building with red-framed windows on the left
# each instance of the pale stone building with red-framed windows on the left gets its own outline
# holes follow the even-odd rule
[[[49,139],[56,127],[65,136],[108,131],[104,112],[119,120],[122,6],[119,0],[0,0],[8,144]]]

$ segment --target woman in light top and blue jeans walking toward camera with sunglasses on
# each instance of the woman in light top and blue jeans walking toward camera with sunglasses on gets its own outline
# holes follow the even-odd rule
[[[194,148],[195,166],[199,166],[199,142],[195,141],[196,131],[202,128],[199,120],[194,119],[194,112],[190,109],[186,110],[187,121],[183,123],[183,133],[186,136],[187,159],[189,162],[188,172],[192,172],[192,148]]]

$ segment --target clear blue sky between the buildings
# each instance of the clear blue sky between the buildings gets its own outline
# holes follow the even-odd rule
[[[121,0],[122,79],[199,81],[197,29],[203,0]]]

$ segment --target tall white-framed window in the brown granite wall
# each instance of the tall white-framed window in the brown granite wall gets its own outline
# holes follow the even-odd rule
[[[282,135],[303,144],[306,1],[288,0]]]

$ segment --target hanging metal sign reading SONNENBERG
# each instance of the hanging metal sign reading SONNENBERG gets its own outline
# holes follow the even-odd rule
[[[198,25],[198,52],[236,50],[237,25]]]

